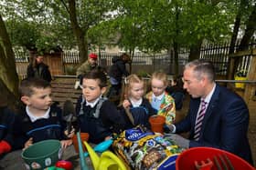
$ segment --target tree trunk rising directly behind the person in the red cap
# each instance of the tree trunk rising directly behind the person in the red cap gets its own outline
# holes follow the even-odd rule
[[[87,32],[88,28],[86,28],[85,31],[83,31],[78,23],[75,0],[69,0],[69,8],[68,9],[69,9],[68,12],[69,12],[69,17],[70,17],[71,27],[73,29],[74,35],[76,36],[77,43],[79,46],[80,63],[83,63],[88,58],[88,42],[87,42],[87,38],[86,38],[86,32]]]

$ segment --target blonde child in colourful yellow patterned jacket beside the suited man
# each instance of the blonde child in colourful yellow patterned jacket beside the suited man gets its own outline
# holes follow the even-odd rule
[[[155,113],[164,115],[165,124],[171,125],[176,118],[176,105],[174,98],[165,92],[165,88],[168,85],[167,75],[162,72],[155,72],[151,77],[150,83],[152,91],[145,96],[155,109]]]

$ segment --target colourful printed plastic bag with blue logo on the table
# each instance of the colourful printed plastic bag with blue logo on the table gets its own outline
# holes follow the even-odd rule
[[[168,157],[183,150],[164,135],[144,131],[140,126],[123,131],[112,148],[131,169],[140,170],[157,169]]]

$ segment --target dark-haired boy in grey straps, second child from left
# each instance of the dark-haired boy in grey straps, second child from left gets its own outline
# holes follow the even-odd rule
[[[124,120],[107,98],[107,77],[99,69],[83,75],[82,95],[76,105],[80,132],[89,133],[89,142],[98,144],[109,139],[112,133],[120,133],[124,129]]]

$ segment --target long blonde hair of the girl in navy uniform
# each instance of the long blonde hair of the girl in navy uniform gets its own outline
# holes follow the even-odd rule
[[[122,95],[121,95],[121,102],[123,102],[124,99],[126,99],[127,97],[129,97],[129,94],[130,94],[130,90],[132,88],[132,85],[134,83],[142,83],[144,84],[144,80],[141,76],[138,76],[138,75],[129,75],[126,77],[126,80],[124,82],[124,87],[122,89]],[[145,86],[145,84],[144,84]]]

